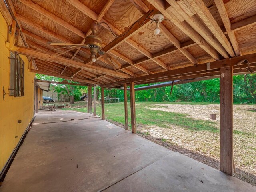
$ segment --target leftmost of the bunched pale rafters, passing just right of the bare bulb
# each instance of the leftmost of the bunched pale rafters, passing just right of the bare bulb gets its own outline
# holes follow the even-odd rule
[[[198,44],[203,50],[205,50],[210,56],[215,60],[219,60],[220,57],[218,53],[196,32],[186,21],[177,22],[176,16],[172,12],[166,9],[166,4],[163,1],[152,1],[148,0],[152,6],[154,6],[158,11],[160,11],[164,16],[166,16],[172,23],[174,23],[182,32],[184,32],[188,37],[190,37],[196,44]]]

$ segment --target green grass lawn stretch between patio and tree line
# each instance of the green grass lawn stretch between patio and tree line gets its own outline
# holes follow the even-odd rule
[[[169,125],[180,126],[190,131],[207,131],[212,133],[218,133],[219,129],[214,126],[217,122],[209,120],[196,120],[188,117],[188,114],[166,112],[161,110],[152,110],[153,108],[164,108],[164,106],[156,106],[155,104],[177,104],[168,102],[136,102],[136,124],[147,126],[160,126],[162,128],[169,128]],[[209,103],[194,103],[194,102],[179,102],[182,105],[206,105]],[[78,112],[87,112],[87,108],[75,108],[75,106],[81,106],[81,104],[74,105],[74,108],[63,108],[62,110],[74,110]],[[73,107],[72,106],[72,107]],[[93,106],[92,106],[93,111]],[[96,114],[101,117],[101,105],[96,105]],[[124,103],[106,103],[105,104],[105,118],[111,122],[118,122],[124,126]],[[130,103],[128,103],[128,122],[130,120]],[[130,127],[130,124],[129,124]],[[246,134],[244,132],[234,130],[237,134]]]

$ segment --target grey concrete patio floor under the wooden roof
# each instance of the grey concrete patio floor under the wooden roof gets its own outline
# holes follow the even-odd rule
[[[39,111],[0,191],[254,192],[256,187],[91,114]]]

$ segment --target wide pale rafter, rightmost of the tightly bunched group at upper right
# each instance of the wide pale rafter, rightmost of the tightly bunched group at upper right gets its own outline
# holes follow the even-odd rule
[[[233,48],[232,48],[230,42],[228,41],[228,39],[222,32],[220,26],[218,25],[218,23],[216,22],[216,20],[214,19],[214,17],[212,16],[211,12],[206,7],[204,2],[202,0],[196,0],[196,1],[187,0],[187,2],[190,3],[192,8],[194,8],[194,11],[198,14],[200,19],[204,22],[204,24],[206,24],[206,26],[210,29],[212,34],[214,34],[214,36],[218,39],[218,41],[226,49],[228,54],[230,54],[230,56],[234,57],[235,54],[234,54],[234,51],[233,51]]]

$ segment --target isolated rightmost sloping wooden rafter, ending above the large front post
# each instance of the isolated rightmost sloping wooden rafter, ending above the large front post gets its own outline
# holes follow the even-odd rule
[[[240,51],[240,48],[239,48],[239,45],[236,41],[236,36],[234,34],[233,31],[231,31],[231,23],[230,23],[230,20],[228,18],[228,13],[226,11],[226,8],[225,8],[225,5],[224,5],[224,2],[222,0],[215,0],[215,5],[218,9],[218,12],[220,14],[220,17],[222,19],[222,22],[226,28],[226,32],[228,33],[228,37],[230,39],[230,42],[234,48],[234,51],[236,53],[236,56],[240,56],[242,55],[241,54],[241,51]]]

